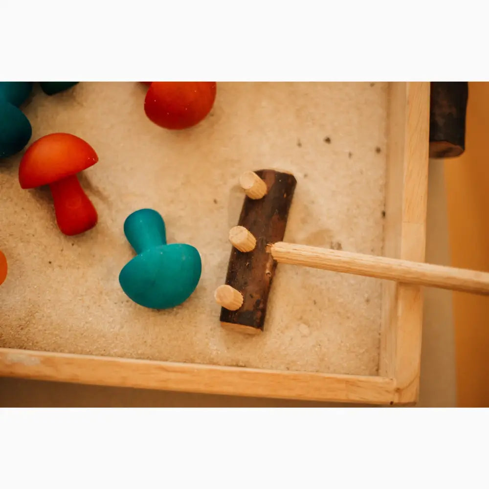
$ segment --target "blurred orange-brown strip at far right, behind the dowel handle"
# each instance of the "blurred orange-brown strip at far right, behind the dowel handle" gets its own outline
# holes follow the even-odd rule
[[[466,150],[445,160],[451,263],[489,271],[489,83],[469,82]],[[489,406],[489,297],[454,292],[457,406]]]

